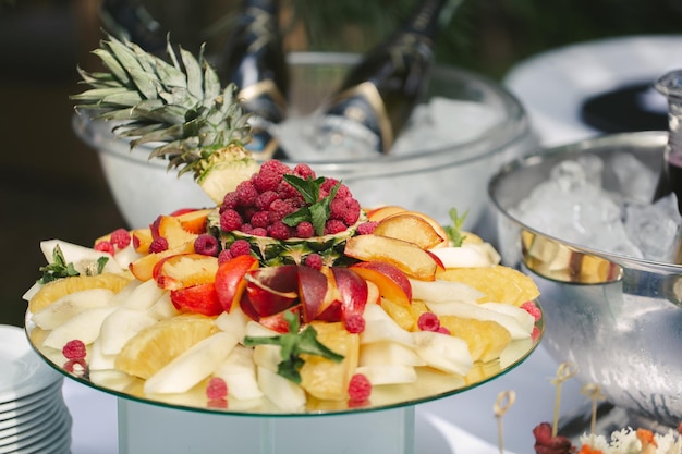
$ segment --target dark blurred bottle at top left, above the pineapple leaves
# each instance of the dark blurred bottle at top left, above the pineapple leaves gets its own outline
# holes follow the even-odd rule
[[[167,32],[139,0],[102,0],[99,15],[111,35],[125,38],[149,53],[166,52]]]

